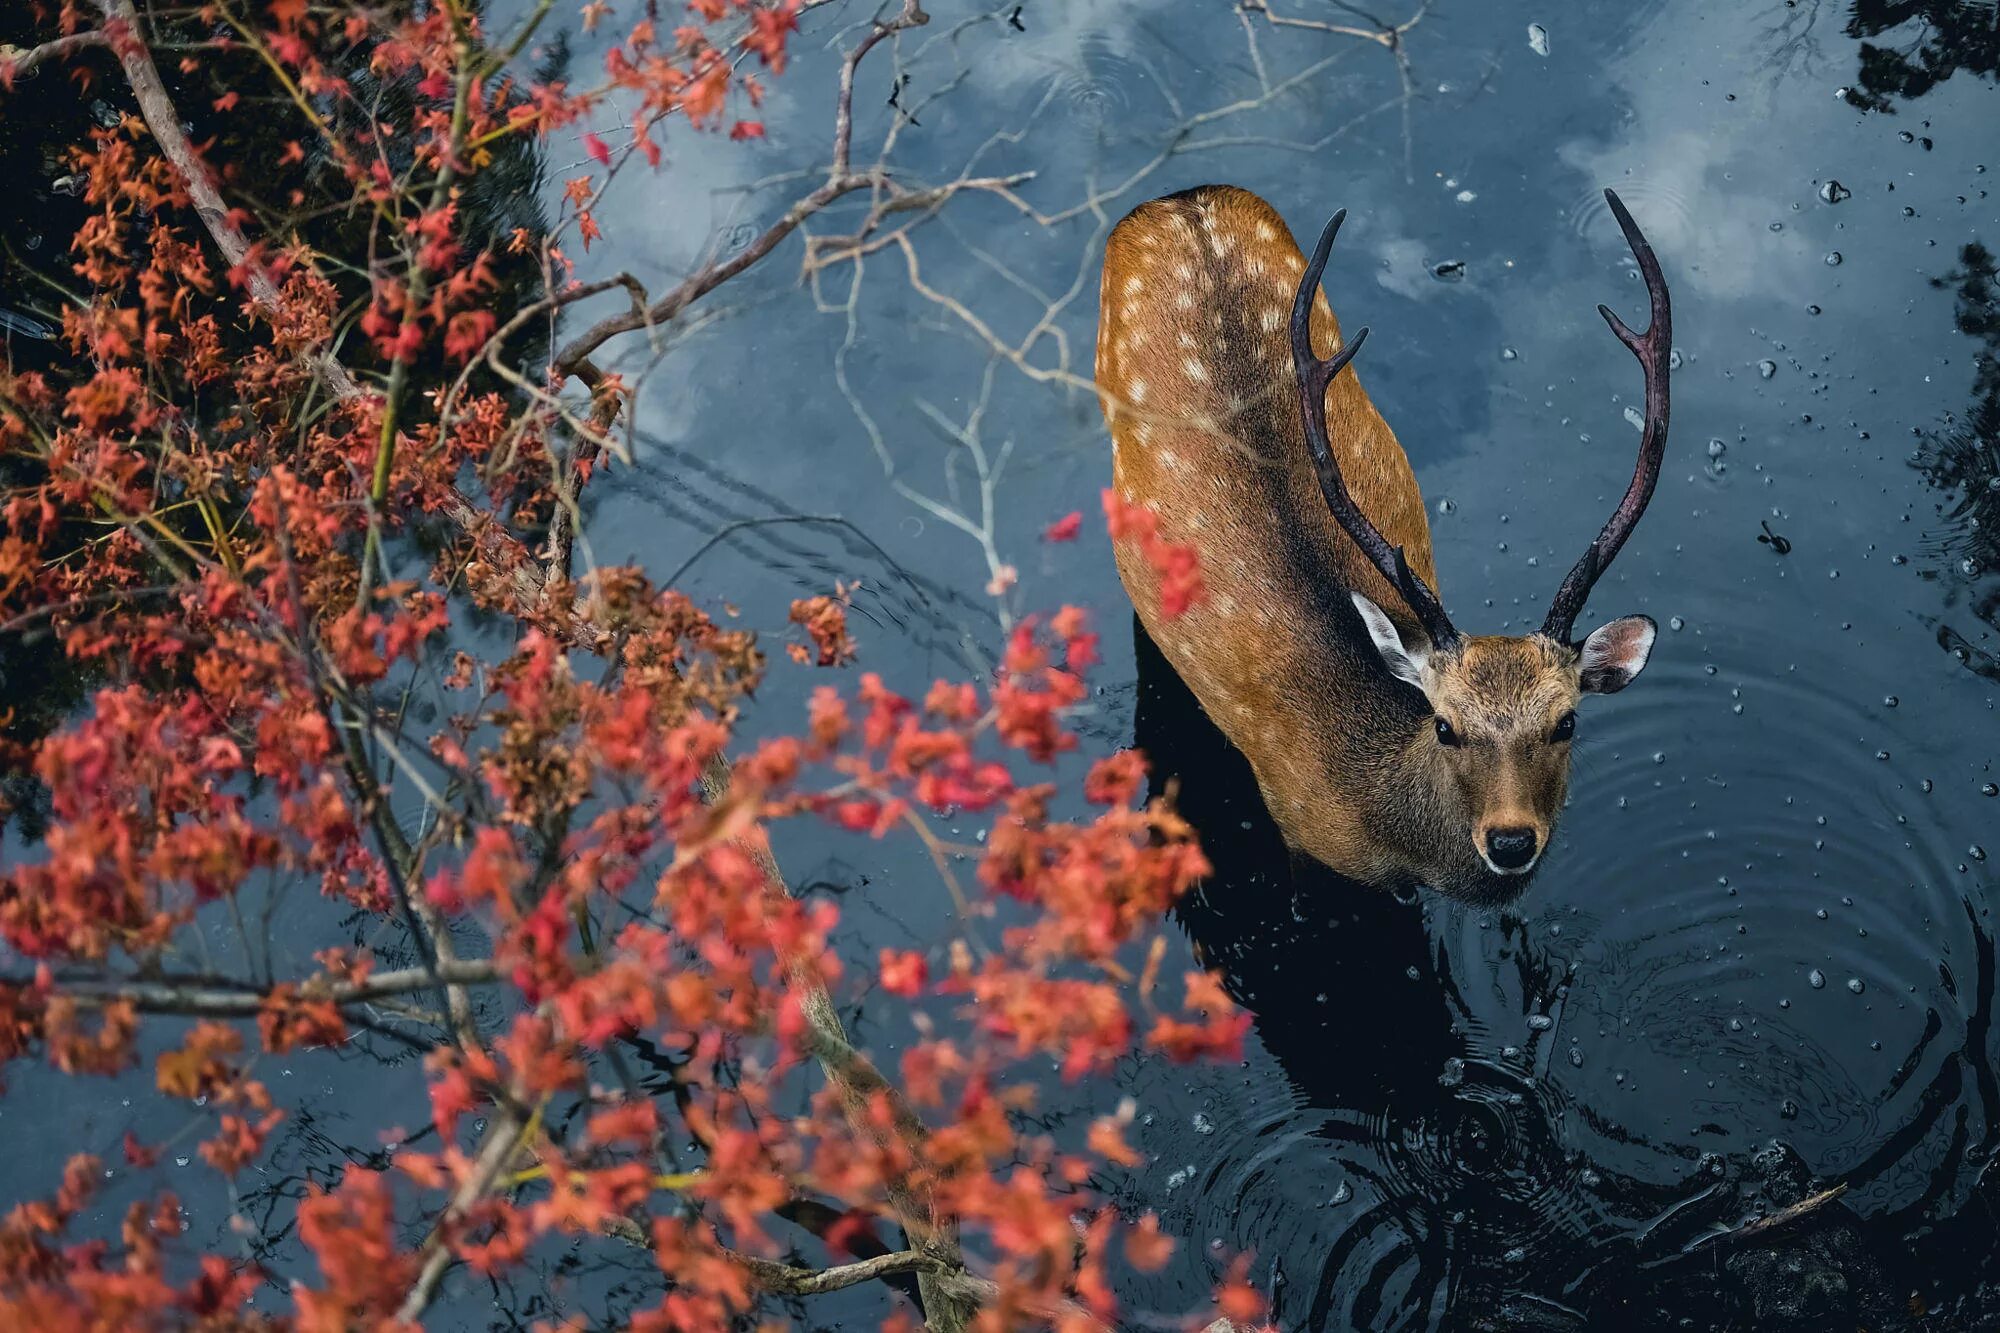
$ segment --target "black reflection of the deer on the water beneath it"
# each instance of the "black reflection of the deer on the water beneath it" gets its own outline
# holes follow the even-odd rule
[[[1290,1083],[1278,1119],[1218,1145],[1204,1183],[1218,1197],[1202,1205],[1278,1219],[1236,1243],[1272,1273],[1280,1327],[1824,1327],[1878,1313],[1882,1283],[1850,1281],[1874,1269],[1844,1207],[1776,1239],[1756,1231],[1756,1245],[1736,1233],[1812,1193],[1788,1149],[1730,1163],[1636,1145],[1680,1159],[1664,1185],[1586,1161],[1588,1113],[1544,1077],[1568,971],[1504,919],[1498,959],[1458,957],[1462,933],[1434,915],[1464,909],[1290,855],[1248,761],[1136,622],[1134,646],[1136,743],[1214,863],[1176,917]],[[1486,1043],[1464,1001],[1500,983],[1522,1005],[1520,1047]],[[1310,1193],[1328,1161],[1352,1181],[1346,1207]]]

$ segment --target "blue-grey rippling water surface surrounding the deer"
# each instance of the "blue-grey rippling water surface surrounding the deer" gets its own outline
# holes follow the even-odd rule
[[[910,234],[914,260],[890,246],[806,286],[792,240],[658,364],[632,354],[634,466],[586,492],[586,550],[668,574],[734,520],[840,516],[866,540],[738,530],[684,586],[780,634],[792,596],[858,578],[862,664],[922,691],[1002,640],[986,544],[938,514],[982,526],[984,468],[1010,612],[1098,612],[1082,759],[1138,729],[1206,779],[1188,795],[1218,875],[1172,963],[1220,963],[1258,1015],[1240,1067],[1050,1077],[1038,1125],[1058,1135],[1136,1101],[1148,1165],[1100,1185],[1182,1241],[1162,1273],[1120,1275],[1126,1327],[1182,1327],[1238,1253],[1288,1329],[1782,1327],[1862,1307],[1870,1283],[1896,1297],[1890,1327],[1990,1327],[2000,316],[1972,246],[2000,234],[2000,10],[1442,0],[1392,50],[1192,0],[930,8],[862,66],[858,154],[894,130],[914,182],[1032,170],[1020,196],[1040,216],[966,194]],[[600,208],[580,274],[660,290],[810,188],[836,50],[870,16],[808,12],[768,140],[670,136],[670,168],[630,172]],[[588,76],[602,38],[568,36]],[[552,206],[586,166],[552,146]],[[1586,707],[1570,811],[1514,913],[1280,883],[1228,757],[1156,669],[1140,687],[1096,522],[1096,264],[1130,206],[1208,180],[1264,194],[1298,234],[1350,210],[1328,292],[1374,328],[1364,376],[1472,632],[1538,622],[1630,474],[1638,370],[1594,304],[1638,320],[1644,292],[1604,186],[1662,256],[1668,466],[1588,618],[1644,610],[1666,632],[1632,691]],[[1082,540],[1040,540],[1076,508]],[[818,683],[774,671],[750,729],[794,729]],[[850,963],[960,929],[922,849],[792,829],[780,859],[838,897]],[[864,989],[842,999],[894,1059],[908,1029]],[[374,1037],[264,1073],[296,1107],[272,1159],[236,1191],[192,1169],[186,1203],[198,1239],[234,1245],[246,1215],[246,1249],[310,1277],[286,1201],[390,1161],[376,1127],[424,1125],[424,1083]],[[78,1137],[114,1157],[124,1129],[186,1119],[146,1079],[82,1109],[68,1081],[12,1079],[0,1123],[50,1151],[10,1169],[10,1195],[46,1191]],[[1838,1243],[1780,1255],[1790,1285],[1704,1249],[1772,1177],[1848,1185]],[[458,1275],[434,1323],[616,1323],[658,1275],[606,1249],[534,1283]],[[1694,1299],[1730,1283],[1754,1291]],[[868,1327],[892,1299],[798,1313]]]

